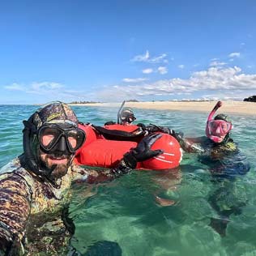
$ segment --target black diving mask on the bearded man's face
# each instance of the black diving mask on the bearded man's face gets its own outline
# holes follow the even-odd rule
[[[82,147],[86,135],[84,131],[79,128],[62,128],[57,124],[46,124],[41,126],[38,130],[37,137],[40,146],[45,152],[50,152],[54,147],[58,146],[58,144],[64,142],[66,144],[64,147],[66,147],[70,153],[75,153],[79,147]]]

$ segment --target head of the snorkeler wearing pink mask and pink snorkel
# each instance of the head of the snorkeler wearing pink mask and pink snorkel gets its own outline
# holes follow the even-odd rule
[[[221,105],[222,102],[218,101],[207,118],[206,134],[215,143],[226,141],[229,138],[230,130],[233,129],[232,122],[228,116],[221,113],[213,118],[213,115]]]

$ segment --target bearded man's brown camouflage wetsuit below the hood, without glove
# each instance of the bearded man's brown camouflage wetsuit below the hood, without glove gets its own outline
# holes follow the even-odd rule
[[[121,163],[117,169],[105,170],[102,180],[129,171]],[[70,201],[71,181],[91,183],[100,181],[100,175],[73,164],[59,186],[53,186],[23,169],[18,158],[4,166],[0,173],[0,245],[10,241],[14,246],[11,255],[15,256],[66,255],[74,233],[72,223],[68,223],[63,214]],[[5,254],[0,250],[0,255]]]

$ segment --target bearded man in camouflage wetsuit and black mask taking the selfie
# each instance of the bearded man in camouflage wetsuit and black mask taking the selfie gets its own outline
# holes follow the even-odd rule
[[[67,217],[72,181],[111,180],[130,173],[159,134],[145,137],[115,169],[96,172],[72,164],[86,134],[62,102],[38,109],[24,121],[23,155],[0,171],[0,255],[66,255],[74,224]]]

